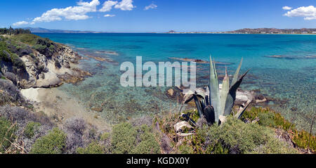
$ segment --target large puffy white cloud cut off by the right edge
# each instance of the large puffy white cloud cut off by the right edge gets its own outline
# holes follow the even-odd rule
[[[316,8],[314,6],[302,6],[288,11],[284,15],[288,17],[303,17],[304,20],[316,20]]]

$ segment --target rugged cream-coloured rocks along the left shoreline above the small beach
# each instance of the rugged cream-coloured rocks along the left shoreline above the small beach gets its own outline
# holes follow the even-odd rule
[[[20,59],[25,64],[25,70],[18,73],[11,71],[9,63],[1,63],[4,77],[11,79],[20,89],[51,88],[63,82],[77,83],[91,76],[89,72],[77,68],[81,56],[62,44],[58,44],[57,51],[51,57],[39,51],[29,51]]]

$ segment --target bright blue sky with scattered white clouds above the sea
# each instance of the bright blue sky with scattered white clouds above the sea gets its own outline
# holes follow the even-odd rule
[[[105,32],[316,27],[315,0],[112,0],[104,5],[105,1],[1,1],[0,27]]]

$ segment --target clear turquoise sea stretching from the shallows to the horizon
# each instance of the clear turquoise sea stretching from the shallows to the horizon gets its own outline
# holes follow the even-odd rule
[[[299,128],[308,129],[316,109],[316,35],[286,34],[37,34],[72,46],[86,59],[80,67],[93,72],[79,84],[59,89],[84,103],[87,109],[103,106],[100,115],[117,123],[141,115],[162,114],[177,108],[166,96],[168,88],[124,88],[120,86],[120,63],[176,61],[169,58],[195,58],[233,63],[233,75],[241,58],[242,72],[251,68],[242,89],[259,91],[268,105],[281,112]],[[106,52],[104,52],[106,51]],[[118,56],[107,54],[108,51]],[[100,62],[87,56],[112,59]],[[282,56],[270,58],[269,56]],[[218,66],[223,73],[224,66]],[[208,65],[198,64],[198,84],[208,82]]]

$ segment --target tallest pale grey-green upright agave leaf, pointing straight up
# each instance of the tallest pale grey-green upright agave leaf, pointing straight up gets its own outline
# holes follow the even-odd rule
[[[210,77],[209,77],[209,103],[213,106],[215,112],[215,120],[218,121],[219,110],[219,90],[218,90],[218,78],[216,77],[216,67],[213,64],[211,56],[210,59]]]

